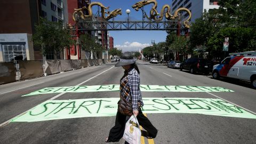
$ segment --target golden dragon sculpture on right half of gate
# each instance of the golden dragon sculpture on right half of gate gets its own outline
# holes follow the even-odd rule
[[[156,0],[147,0],[147,1],[146,1],[146,0],[143,0],[143,1],[137,2],[137,3],[135,3],[134,5],[132,5],[132,8],[135,9],[135,11],[139,11],[139,9],[140,9],[141,7],[143,7],[143,6],[145,6],[145,5],[148,5],[148,4],[150,4],[150,3],[153,3],[154,5],[153,5],[153,7],[152,7],[151,10],[150,10],[150,16],[148,17],[148,15],[146,14],[146,17],[147,17],[148,20],[161,21],[161,20],[163,20],[164,17],[165,17],[167,20],[171,20],[171,19],[175,19],[175,18],[178,17],[179,11],[186,11],[186,12],[188,12],[188,14],[189,14],[189,18],[188,18],[187,20],[185,20],[183,23],[184,23],[185,27],[187,27],[187,28],[190,27],[188,21],[189,21],[189,19],[191,18],[191,12],[190,12],[188,9],[183,8],[183,7],[177,9],[177,10],[174,12],[174,15],[172,15],[172,14],[170,13],[170,11],[171,11],[170,5],[165,4],[165,5],[162,7],[162,10],[161,10],[161,13],[160,13],[160,16],[159,16],[159,17],[157,17],[157,16],[159,15],[159,13],[158,13],[157,10],[156,10],[156,9],[157,9],[157,2],[156,2]],[[165,12],[165,9],[167,10],[166,12]],[[164,15],[164,12],[165,12],[165,15]]]

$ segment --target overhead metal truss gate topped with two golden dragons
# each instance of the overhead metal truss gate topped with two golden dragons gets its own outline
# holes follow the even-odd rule
[[[147,15],[144,6],[153,4],[150,14]],[[98,7],[98,11],[93,15],[92,7]],[[177,36],[188,36],[189,20],[191,12],[183,7],[177,9],[174,14],[171,14],[171,6],[165,4],[161,11],[157,11],[156,0],[140,1],[132,5],[135,11],[142,12],[141,21],[130,21],[129,13],[127,21],[115,21],[115,17],[122,14],[121,9],[109,10],[109,7],[104,6],[100,2],[92,2],[87,7],[75,9],[73,20],[76,22],[74,26],[69,25],[71,35],[76,39],[76,46],[73,45],[70,49],[66,49],[67,57],[70,55],[78,55],[81,58],[81,46],[79,45],[79,35],[92,34],[93,31],[102,31],[102,36],[107,36],[108,30],[166,30],[177,31]],[[181,21],[180,12],[187,12],[188,18]],[[85,14],[87,13],[87,14]],[[105,47],[104,47],[105,45]],[[107,51],[107,41],[102,42],[103,48]],[[79,57],[80,55],[80,57]]]

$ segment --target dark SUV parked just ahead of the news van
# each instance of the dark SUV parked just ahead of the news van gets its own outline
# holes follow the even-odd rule
[[[186,59],[184,62],[180,64],[180,70],[186,69],[189,70],[190,73],[194,74],[204,73],[209,74],[213,67],[213,61],[206,60],[202,58],[190,58]]]

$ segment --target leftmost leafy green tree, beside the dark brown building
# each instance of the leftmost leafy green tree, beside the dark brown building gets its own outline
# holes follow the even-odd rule
[[[60,21],[52,22],[40,18],[39,24],[35,26],[35,31],[33,43],[41,46],[43,55],[49,52],[54,52],[57,55],[64,47],[69,47],[75,43],[69,31],[63,29],[62,22]]]

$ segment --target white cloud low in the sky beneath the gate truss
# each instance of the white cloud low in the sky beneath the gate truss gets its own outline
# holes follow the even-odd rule
[[[150,44],[141,44],[139,42],[125,42],[123,45],[114,45],[117,49],[122,49],[123,52],[139,51],[144,47],[150,46]]]

